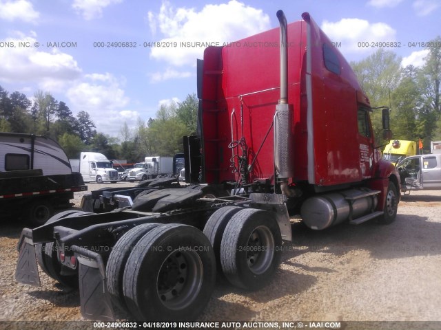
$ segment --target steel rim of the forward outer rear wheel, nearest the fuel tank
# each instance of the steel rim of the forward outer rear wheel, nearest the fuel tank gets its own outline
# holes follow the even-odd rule
[[[271,230],[260,225],[249,235],[246,256],[249,270],[254,274],[263,274],[274,259],[274,236]]]

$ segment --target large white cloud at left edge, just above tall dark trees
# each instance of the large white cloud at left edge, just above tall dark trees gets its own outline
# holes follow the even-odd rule
[[[34,32],[15,34],[0,41],[9,46],[0,47],[0,81],[34,81],[40,87],[52,81],[53,85],[61,86],[81,76],[81,68],[71,55],[57,48],[39,51],[39,47],[34,47],[37,42]]]

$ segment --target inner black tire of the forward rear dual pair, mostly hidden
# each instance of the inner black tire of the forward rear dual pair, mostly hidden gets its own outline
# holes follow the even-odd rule
[[[203,233],[207,236],[209,243],[212,244],[214,255],[216,256],[216,269],[221,276],[223,272],[222,265],[220,265],[220,243],[222,243],[223,232],[225,227],[227,227],[228,221],[240,210],[243,210],[243,208],[239,206],[225,206],[216,210],[209,217],[207,223],[205,223]]]

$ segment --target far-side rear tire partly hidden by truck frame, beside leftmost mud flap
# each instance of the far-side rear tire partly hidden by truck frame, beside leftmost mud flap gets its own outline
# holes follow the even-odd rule
[[[79,210],[69,210],[55,214],[54,217],[48,220],[48,223],[52,223],[61,218],[78,217],[83,214],[92,214],[91,212],[84,212]],[[58,261],[57,248],[54,242],[45,243],[43,254],[43,265],[45,267],[45,273],[54,280],[58,281],[65,287],[78,287],[78,276],[74,275],[61,275],[61,264]],[[43,267],[41,267],[43,269]]]

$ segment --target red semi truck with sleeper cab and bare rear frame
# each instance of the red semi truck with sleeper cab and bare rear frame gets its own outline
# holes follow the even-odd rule
[[[289,25],[277,16],[280,29],[198,61],[200,134],[184,139],[185,175],[203,184],[92,192],[85,212],[23,230],[17,281],[39,285],[37,256],[53,278],[79,283],[85,318],[111,320],[117,307],[136,320],[192,320],[216,272],[243,289],[271,281],[290,214],[313,230],[396,218],[399,176],[380,157],[351,67],[309,14]]]

